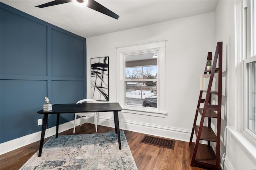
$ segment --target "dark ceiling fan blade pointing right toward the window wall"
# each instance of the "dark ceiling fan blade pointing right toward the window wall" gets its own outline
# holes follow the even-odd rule
[[[114,12],[110,11],[108,8],[102,6],[95,0],[88,0],[88,4],[86,5],[88,8],[91,8],[93,10],[96,10],[98,12],[101,12],[102,14],[105,14],[107,16],[110,16],[112,18],[118,19],[119,16],[115,14]]]

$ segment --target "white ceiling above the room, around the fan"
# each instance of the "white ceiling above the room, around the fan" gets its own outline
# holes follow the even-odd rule
[[[89,38],[215,11],[218,0],[96,0],[118,20],[73,2],[37,8],[52,0],[0,0],[27,14]]]

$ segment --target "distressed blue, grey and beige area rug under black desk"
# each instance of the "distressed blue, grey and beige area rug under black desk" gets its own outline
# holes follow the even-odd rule
[[[20,170],[138,170],[124,132],[52,136]]]

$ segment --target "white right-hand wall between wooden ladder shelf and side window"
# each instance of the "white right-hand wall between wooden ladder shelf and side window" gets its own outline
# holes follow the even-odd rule
[[[220,0],[215,11],[216,42],[223,42],[221,166],[225,170],[248,170],[256,169],[256,164],[255,158],[248,153],[246,147],[250,145],[255,147],[255,143],[246,140],[240,132],[234,130],[237,128],[238,108],[235,104],[235,96],[238,93],[235,63],[235,5],[236,1]]]

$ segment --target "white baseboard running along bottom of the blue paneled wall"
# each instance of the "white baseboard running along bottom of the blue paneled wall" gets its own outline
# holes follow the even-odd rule
[[[70,128],[74,128],[74,121],[70,121],[68,123],[59,125],[59,132],[64,132],[65,130],[68,130]],[[56,126],[46,129],[44,138],[48,138],[55,134],[56,134]],[[10,152],[12,150],[21,148],[22,146],[26,146],[33,142],[39,141],[40,138],[41,138],[41,131],[1,143],[0,144],[0,155]],[[39,146],[38,146],[38,149],[39,149]]]

